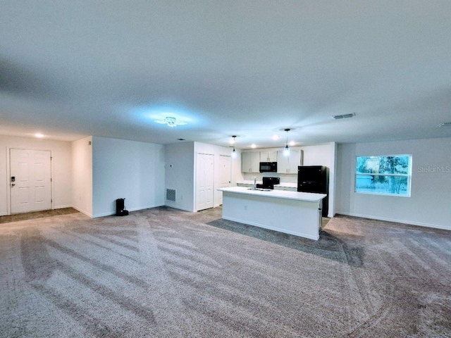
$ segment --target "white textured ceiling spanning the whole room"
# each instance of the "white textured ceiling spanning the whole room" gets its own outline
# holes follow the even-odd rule
[[[1,1],[0,134],[450,137],[450,18],[448,0]]]

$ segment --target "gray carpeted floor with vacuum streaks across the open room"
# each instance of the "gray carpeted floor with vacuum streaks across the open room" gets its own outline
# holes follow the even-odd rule
[[[451,337],[451,232],[212,209],[0,225],[0,337]]]

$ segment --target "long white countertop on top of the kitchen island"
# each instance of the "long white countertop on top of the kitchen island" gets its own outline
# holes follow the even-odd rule
[[[297,201],[319,202],[326,194],[314,194],[311,192],[287,192],[285,190],[260,189],[252,190],[247,187],[219,188],[220,192],[232,192],[235,194],[246,194],[254,196],[267,196],[276,199],[295,199]]]

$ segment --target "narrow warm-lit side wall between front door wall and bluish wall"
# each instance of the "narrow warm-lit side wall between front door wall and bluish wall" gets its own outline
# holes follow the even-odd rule
[[[72,142],[72,206],[92,217],[92,136]]]

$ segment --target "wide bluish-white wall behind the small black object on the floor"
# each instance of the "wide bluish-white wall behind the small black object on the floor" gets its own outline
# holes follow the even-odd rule
[[[164,205],[164,146],[92,137],[92,217]]]

